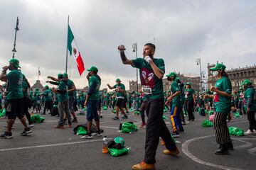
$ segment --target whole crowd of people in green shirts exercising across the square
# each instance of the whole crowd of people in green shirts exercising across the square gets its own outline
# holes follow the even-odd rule
[[[0,80],[6,82],[1,86],[1,108],[6,109],[6,130],[1,138],[11,138],[11,129],[16,117],[24,126],[21,135],[31,133],[33,122],[31,114],[46,114],[58,116],[58,125],[55,128],[73,127],[78,123],[76,111],[87,108],[87,135],[81,135],[82,139],[92,139],[92,136],[101,136],[100,118],[102,108],[112,109],[115,113],[113,120],[127,120],[129,111],[137,111],[142,118],[140,128],[146,128],[145,156],[142,162],[132,166],[133,169],[155,169],[156,149],[161,137],[161,144],[166,146],[164,154],[179,154],[178,147],[173,137],[184,132],[183,125],[195,120],[194,112],[200,108],[200,115],[206,115],[206,111],[214,111],[213,120],[215,137],[220,145],[215,154],[228,154],[233,149],[230,140],[227,122],[232,121],[230,116],[234,111],[247,114],[249,130],[246,135],[255,133],[256,122],[256,93],[252,82],[245,80],[239,90],[233,90],[228,74],[225,73],[225,65],[217,63],[210,68],[216,77],[215,86],[210,86],[206,92],[199,93],[193,89],[190,82],[183,82],[175,72],[166,74],[170,81],[170,90],[164,91],[163,81],[165,70],[164,60],[154,58],[155,45],[144,45],[143,57],[136,60],[127,59],[124,54],[124,45],[119,45],[118,50],[123,64],[131,65],[139,69],[142,89],[139,91],[127,91],[120,79],[116,79],[114,85],[107,84],[111,90],[100,91],[101,78],[97,67],[87,69],[88,91],[78,90],[68,74],[58,74],[57,77],[48,76],[48,85],[43,91],[31,88],[26,76],[21,72],[19,61],[11,59],[9,66],[3,67]],[[7,74],[7,70],[9,73]],[[111,83],[111,82],[110,82]],[[50,88],[51,86],[51,88]],[[170,111],[171,129],[169,132],[163,120],[164,110]],[[145,114],[146,113],[146,114]],[[26,115],[26,117],[25,117]],[[185,120],[187,115],[187,120]],[[96,132],[92,133],[92,121],[95,120]]]

